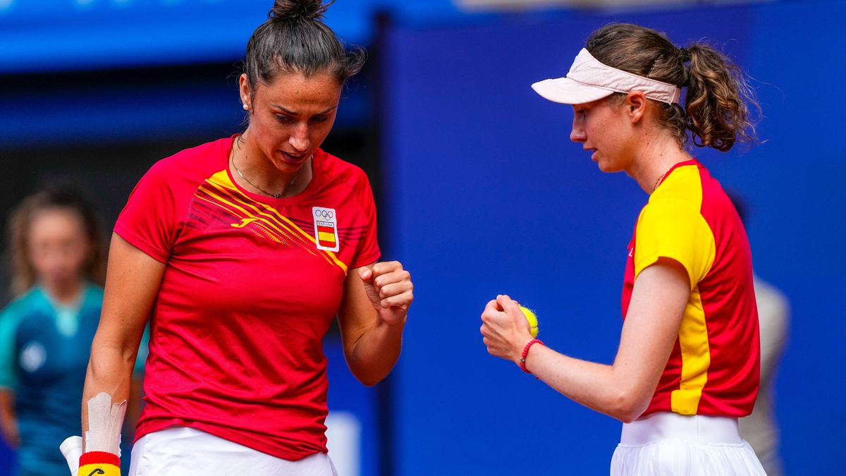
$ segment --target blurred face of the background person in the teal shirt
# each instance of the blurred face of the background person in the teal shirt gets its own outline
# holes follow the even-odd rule
[[[79,214],[65,208],[37,212],[26,245],[41,285],[58,302],[74,302],[82,289],[83,268],[91,257]]]

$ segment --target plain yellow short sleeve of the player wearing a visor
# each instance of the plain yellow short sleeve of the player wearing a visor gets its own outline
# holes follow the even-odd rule
[[[647,204],[634,235],[634,278],[660,257],[684,266],[691,291],[711,270],[716,244],[711,227],[690,202],[667,198]]]

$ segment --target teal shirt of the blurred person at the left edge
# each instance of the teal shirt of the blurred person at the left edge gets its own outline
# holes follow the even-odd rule
[[[63,307],[35,286],[0,313],[0,387],[15,395],[21,475],[69,471],[58,446],[80,434],[82,390],[102,298],[102,288],[89,284],[79,307]],[[146,358],[146,343],[141,349],[136,368]]]

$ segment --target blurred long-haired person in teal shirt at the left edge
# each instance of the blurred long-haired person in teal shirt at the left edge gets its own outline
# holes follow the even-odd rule
[[[0,427],[17,474],[68,471],[58,445],[77,428],[100,320],[101,230],[92,203],[66,185],[25,198],[9,219],[15,297],[0,313]]]

